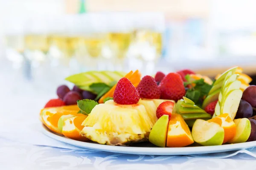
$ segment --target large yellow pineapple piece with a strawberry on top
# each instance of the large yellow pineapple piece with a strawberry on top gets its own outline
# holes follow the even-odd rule
[[[96,105],[81,135],[100,144],[128,145],[148,140],[153,127],[143,105],[119,105],[106,102]]]

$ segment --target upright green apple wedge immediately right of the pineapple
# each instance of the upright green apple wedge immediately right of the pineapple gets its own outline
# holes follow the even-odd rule
[[[157,120],[149,133],[148,140],[159,147],[166,147],[166,138],[168,130],[169,116],[163,115]]]

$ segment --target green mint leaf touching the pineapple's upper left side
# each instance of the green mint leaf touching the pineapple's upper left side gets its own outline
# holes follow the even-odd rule
[[[91,113],[91,111],[96,105],[99,105],[99,103],[94,100],[83,99],[83,100],[77,100],[77,105],[80,109],[80,113],[88,115]]]

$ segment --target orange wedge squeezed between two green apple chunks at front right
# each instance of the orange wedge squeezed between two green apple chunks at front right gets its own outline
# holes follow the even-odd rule
[[[215,118],[209,119],[208,122],[215,122],[224,129],[224,141],[230,141],[236,135],[236,124],[233,122],[228,113],[221,114]]]

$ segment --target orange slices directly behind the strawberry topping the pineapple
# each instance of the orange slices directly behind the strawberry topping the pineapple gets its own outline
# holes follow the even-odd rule
[[[137,87],[137,85],[140,83],[141,73],[138,70],[136,70],[135,72],[130,71],[128,74],[125,75],[125,77],[131,81],[134,87]],[[107,97],[113,97],[115,89],[116,84],[99,99],[99,103],[103,103],[104,99],[106,99]]]

